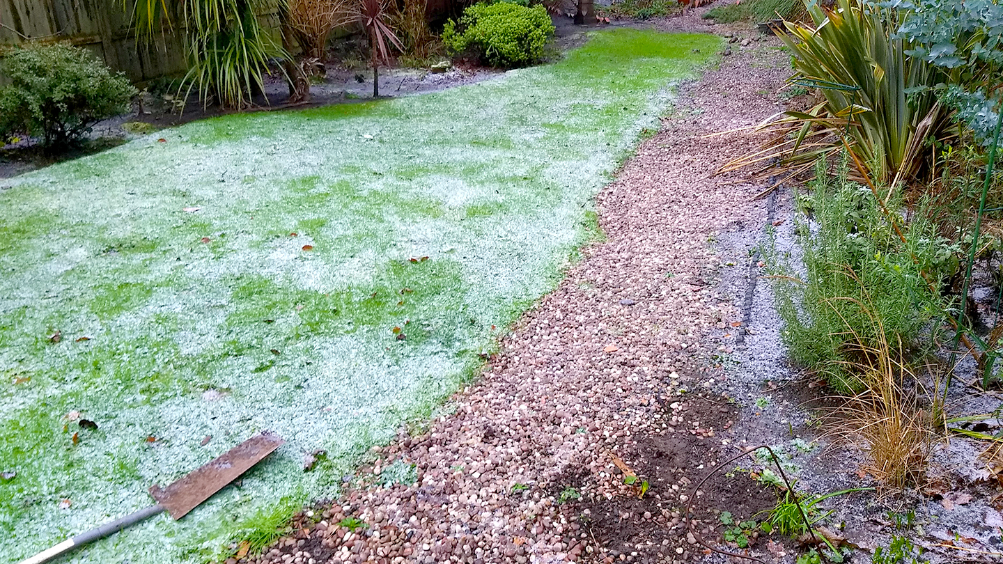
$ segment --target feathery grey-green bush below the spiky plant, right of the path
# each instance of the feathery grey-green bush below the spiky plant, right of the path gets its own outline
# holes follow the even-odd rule
[[[942,315],[944,304],[930,289],[957,268],[953,249],[916,214],[900,226],[906,243],[882,214],[871,191],[817,172],[803,205],[813,221],[799,223],[797,243],[803,253],[804,278],[775,245],[766,249],[774,278],[781,333],[791,358],[828,377],[843,391],[864,382],[845,368],[860,347],[876,347],[881,335],[905,345],[920,341],[921,331]],[[893,193],[890,210],[902,209]],[[914,260],[915,257],[915,260]]]

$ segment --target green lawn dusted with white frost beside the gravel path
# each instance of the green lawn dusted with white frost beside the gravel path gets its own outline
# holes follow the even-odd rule
[[[593,196],[717,47],[596,33],[489,82],[191,123],[8,183],[0,560],[147,505],[260,430],[288,445],[239,487],[73,559],[218,556],[335,495],[555,285],[595,234]]]

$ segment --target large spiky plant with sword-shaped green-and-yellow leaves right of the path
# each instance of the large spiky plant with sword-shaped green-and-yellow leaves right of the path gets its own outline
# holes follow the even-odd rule
[[[833,8],[812,3],[813,24],[787,22],[780,36],[794,57],[793,80],[819,84],[825,96],[807,111],[786,112],[799,129],[787,162],[809,170],[819,155],[849,147],[861,175],[875,182],[919,178],[932,169],[928,139],[954,134],[950,110],[928,91],[943,72],[906,54],[907,42],[892,34],[894,12],[854,0]]]

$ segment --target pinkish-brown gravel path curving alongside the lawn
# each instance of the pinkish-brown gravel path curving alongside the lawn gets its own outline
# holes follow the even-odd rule
[[[734,412],[709,392],[680,388],[699,392],[720,377],[706,359],[734,346],[727,331],[741,320],[716,289],[714,237],[765,217],[762,202],[749,201],[760,187],[711,176],[757,139],[705,135],[777,111],[789,72],[777,44],[732,44],[720,69],[683,88],[662,131],[599,196],[608,239],[526,314],[482,378],[447,404],[450,412],[424,433],[402,430],[371,454],[354,479],[361,485],[340,505],[299,516],[293,535],[249,560],[702,557],[680,508],[687,486],[735,452],[726,447]],[[392,461],[416,465],[417,482],[367,486]],[[625,472],[650,480],[644,499],[624,484]],[[339,527],[349,516],[367,527]]]

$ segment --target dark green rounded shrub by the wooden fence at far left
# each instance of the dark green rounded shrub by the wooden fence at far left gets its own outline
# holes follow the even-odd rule
[[[64,44],[17,49],[4,61],[0,132],[38,135],[46,147],[72,144],[101,119],[128,110],[136,89],[86,50]]]

